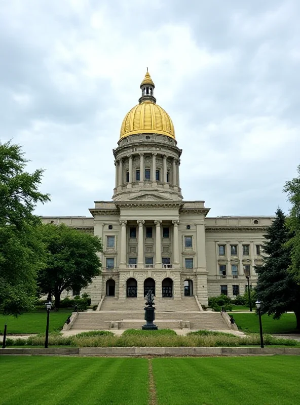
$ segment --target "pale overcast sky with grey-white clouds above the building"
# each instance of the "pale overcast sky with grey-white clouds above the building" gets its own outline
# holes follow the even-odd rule
[[[45,168],[38,215],[110,200],[146,66],[209,216],[287,212],[300,164],[299,0],[0,0],[0,138]]]

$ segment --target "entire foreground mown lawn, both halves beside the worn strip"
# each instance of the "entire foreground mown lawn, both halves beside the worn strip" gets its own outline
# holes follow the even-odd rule
[[[296,405],[300,356],[152,360],[157,405]],[[0,405],[147,405],[148,359],[1,356]]]

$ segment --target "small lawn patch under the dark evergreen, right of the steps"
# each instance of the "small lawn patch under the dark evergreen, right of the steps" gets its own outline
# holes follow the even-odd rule
[[[233,317],[238,328],[244,332],[259,333],[259,319],[253,313],[234,313]],[[291,333],[296,332],[296,317],[294,313],[284,313],[279,320],[272,316],[261,316],[262,331],[264,333]]]

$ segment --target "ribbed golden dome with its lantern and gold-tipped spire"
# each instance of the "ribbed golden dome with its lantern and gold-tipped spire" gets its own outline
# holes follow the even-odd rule
[[[144,86],[151,87],[145,93]],[[148,71],[141,83],[142,97],[123,119],[120,139],[134,134],[159,134],[175,139],[175,131],[169,114],[159,105],[153,96],[154,83]],[[148,91],[148,90],[147,90]]]

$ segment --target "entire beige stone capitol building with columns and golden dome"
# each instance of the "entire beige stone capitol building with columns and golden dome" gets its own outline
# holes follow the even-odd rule
[[[140,89],[113,150],[112,200],[96,200],[89,217],[42,217],[43,222],[64,223],[102,239],[101,275],[85,290],[92,305],[104,297],[143,300],[149,289],[161,301],[183,303],[193,296],[200,305],[211,296],[244,294],[245,276],[250,286],[256,284],[254,266],[262,262],[263,235],[273,217],[209,217],[204,201],[184,200],[184,151],[170,116],[156,103],[148,71]]]

